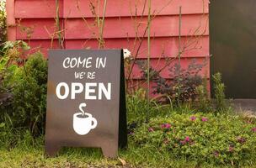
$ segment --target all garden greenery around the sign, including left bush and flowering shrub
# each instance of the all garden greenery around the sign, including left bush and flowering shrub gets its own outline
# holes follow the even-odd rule
[[[195,100],[180,103],[175,95],[168,97],[170,103],[159,97],[147,102],[143,89],[127,95],[129,145],[116,160],[105,159],[99,149],[83,148],[62,149],[57,157],[46,158],[47,61],[35,53],[24,66],[8,68],[3,91],[11,91],[13,99],[0,116],[3,167],[240,167],[256,161],[255,118],[233,113],[221,74],[214,76],[214,101],[204,85],[193,89]]]

